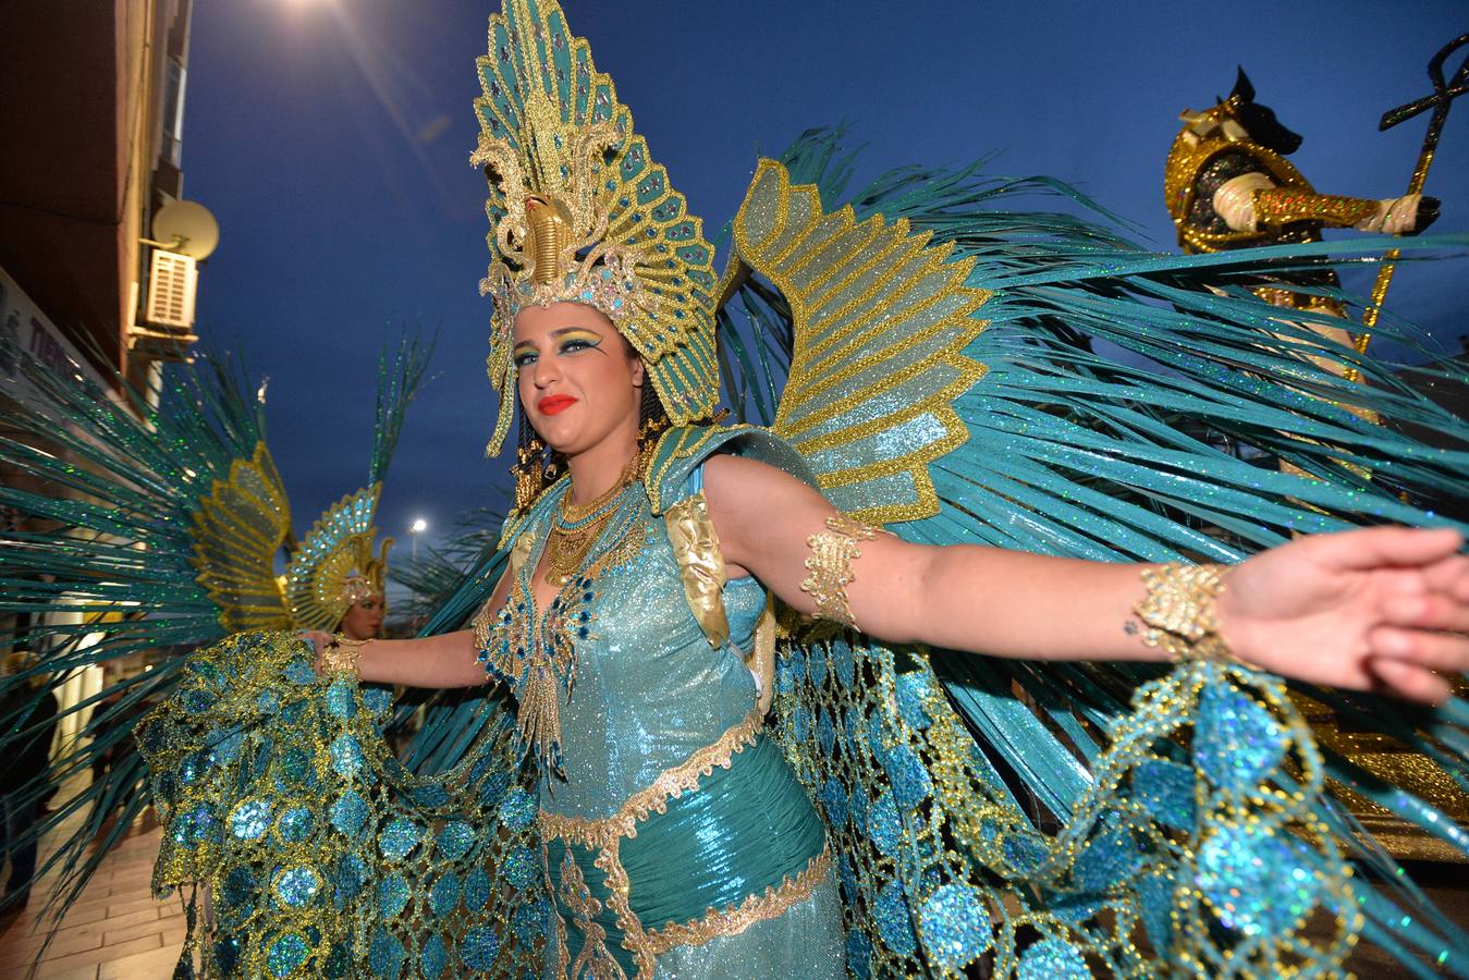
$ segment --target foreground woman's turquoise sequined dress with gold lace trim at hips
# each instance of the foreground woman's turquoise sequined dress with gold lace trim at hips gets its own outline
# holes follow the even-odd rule
[[[574,641],[571,692],[555,695],[563,765],[539,793],[555,902],[546,976],[845,976],[826,832],[764,732],[742,655],[764,589],[724,586],[729,641],[712,646],[664,520],[633,485],[542,614],[529,576],[564,492],[517,530],[524,558],[480,657],[520,693],[536,642]]]

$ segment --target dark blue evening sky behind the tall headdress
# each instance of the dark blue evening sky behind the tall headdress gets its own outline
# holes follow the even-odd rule
[[[1376,120],[1426,94],[1428,59],[1469,29],[1462,0],[564,6],[711,237],[759,151],[848,120],[851,144],[865,145],[859,178],[999,151],[993,173],[1071,181],[1162,250],[1175,247],[1161,188],[1178,112],[1227,94],[1237,63],[1306,137],[1294,160],[1318,190],[1388,197],[1406,187],[1426,118],[1388,134]],[[438,530],[498,501],[507,460],[483,457],[495,414],[477,294],[488,223],[467,163],[492,9],[195,3],[185,195],[222,229],[197,329],[270,376],[267,433],[298,532],[366,479],[375,361],[401,323],[438,329],[439,344],[383,530],[405,551],[414,514]],[[1469,101],[1429,175],[1428,192],[1445,198],[1441,231],[1469,229],[1465,173]],[[1429,264],[1400,270],[1390,304],[1457,348],[1462,297],[1448,267]]]

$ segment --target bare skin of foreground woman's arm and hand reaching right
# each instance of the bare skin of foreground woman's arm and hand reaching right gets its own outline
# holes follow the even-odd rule
[[[732,577],[761,579],[802,613],[806,539],[836,511],[795,478],[720,455],[705,495]],[[1359,691],[1441,701],[1431,671],[1469,669],[1469,558],[1453,530],[1376,527],[1302,539],[1235,566],[1219,597],[1234,655],[1266,670]],[[889,642],[1028,660],[1161,660],[1133,608],[1143,566],[977,545],[933,548],[880,535],[859,542],[846,586],[852,617]]]

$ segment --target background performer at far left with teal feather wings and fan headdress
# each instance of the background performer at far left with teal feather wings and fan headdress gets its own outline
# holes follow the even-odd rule
[[[85,713],[73,751],[43,777],[12,788],[38,799],[88,768],[91,785],[63,798],[28,829],[37,839],[76,821],[40,868],[57,871],[57,915],[81,893],[109,849],[151,802],[132,729],[178,689],[184,655],[241,630],[333,629],[355,639],[382,627],[391,539],[376,544],[376,510],[403,414],[427,348],[416,339],[385,356],[367,486],[328,508],[297,542],[291,507],[264,439],[264,385],[254,400],[242,379],[206,356],[169,366],[154,391],[118,379],[116,391],[78,383],[79,373],[12,350],[18,378],[0,460],[22,480],[0,486],[21,520],[7,532],[0,591],[7,613],[28,614],[7,632],[41,651],[22,680],[47,692],[94,664],[151,663],[71,705]],[[285,574],[276,555],[288,551]],[[385,692],[375,692],[382,696]],[[32,698],[21,698],[29,707]],[[7,701],[9,705],[9,701]],[[4,751],[35,732],[7,707]],[[120,810],[115,823],[104,818]],[[93,843],[98,846],[91,848]]]

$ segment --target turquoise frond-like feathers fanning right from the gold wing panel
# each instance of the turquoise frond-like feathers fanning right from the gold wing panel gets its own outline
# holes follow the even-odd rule
[[[827,212],[852,172],[839,131],[811,131],[783,157],[793,184],[815,184]],[[955,404],[968,442],[930,466],[939,513],[892,525],[927,544],[986,544],[1102,561],[1235,561],[1294,533],[1353,525],[1451,523],[1444,505],[1469,498],[1469,423],[1372,357],[1325,344],[1310,322],[1250,292],[1268,275],[1331,259],[1374,260],[1388,239],[1259,248],[1219,256],[1159,256],[1131,244],[1102,213],[1009,210],[1022,195],[1077,210],[1091,201],[1049,179],[995,179],[980,166],[906,167],[846,198],[856,219],[906,217],[914,232],[955,241],[952,262],[974,257],[968,287],[992,289],[974,314],[987,328],[965,354],[986,376]],[[1413,256],[1469,250],[1469,237],[1393,239]],[[1318,288],[1360,310],[1354,297]],[[770,423],[790,369],[793,322],[780,292],[746,279],[720,317],[721,369],[734,413]],[[1379,336],[1418,351],[1431,344],[1385,314]],[[1312,360],[1360,373],[1354,383]],[[1466,383],[1456,366],[1437,373]],[[1353,411],[1356,410],[1356,411]],[[1375,413],[1393,425],[1376,425]],[[1434,445],[1398,430],[1434,433]],[[1282,473],[1285,460],[1307,476]],[[1315,478],[1315,479],[1312,479]],[[949,702],[989,757],[987,765],[1037,824],[1071,814],[1091,786],[1099,732],[1159,670],[1124,664],[1028,664],[936,651]],[[1015,688],[1027,692],[1017,699]],[[1388,699],[1309,691],[1338,717],[1369,720],[1434,758],[1462,788],[1460,701],[1418,711]],[[1469,855],[1469,839],[1422,799],[1327,754],[1328,774]],[[1422,898],[1391,858],[1353,833],[1351,815],[1321,817],[1353,857],[1394,886],[1368,895],[1365,934],[1415,971],[1469,962],[1469,936]],[[1396,905],[1394,905],[1396,902]],[[1412,927],[1401,923],[1412,920]],[[1409,952],[1412,951],[1412,952]]]

